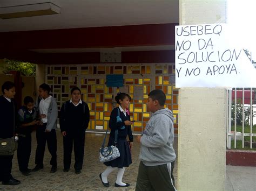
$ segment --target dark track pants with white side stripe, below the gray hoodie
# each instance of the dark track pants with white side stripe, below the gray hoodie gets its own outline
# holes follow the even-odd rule
[[[139,164],[139,173],[136,183],[136,191],[145,190],[176,190],[173,178],[174,161],[159,166],[145,166],[142,161]]]

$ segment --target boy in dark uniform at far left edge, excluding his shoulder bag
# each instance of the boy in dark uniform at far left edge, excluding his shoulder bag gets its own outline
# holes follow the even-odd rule
[[[4,82],[0,96],[0,138],[11,138],[15,135],[16,106],[14,103],[15,85],[12,82]],[[0,181],[3,185],[18,185],[21,181],[11,175],[12,158],[14,155],[0,155]]]

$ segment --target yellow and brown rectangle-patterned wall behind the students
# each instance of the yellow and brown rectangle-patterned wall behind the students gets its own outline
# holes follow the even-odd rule
[[[174,63],[48,65],[46,68],[46,83],[52,87],[58,109],[70,99],[71,88],[77,86],[82,90],[82,100],[90,108],[90,130],[106,130],[110,113],[116,105],[113,97],[119,88],[106,87],[106,74],[124,74],[124,86],[132,97],[129,108],[131,118],[136,121],[133,132],[142,132],[150,119],[146,103],[147,94],[153,89],[162,89],[165,92],[167,98],[165,107],[173,111],[176,117],[174,127],[178,128],[178,89],[173,83]],[[136,92],[138,88],[143,92]],[[140,96],[137,96],[138,94]]]

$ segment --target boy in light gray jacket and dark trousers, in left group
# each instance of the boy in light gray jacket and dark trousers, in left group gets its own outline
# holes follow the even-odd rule
[[[39,86],[39,96],[42,97],[42,100],[37,100],[36,107],[39,110],[41,126],[38,126],[36,130],[36,167],[32,169],[33,172],[39,171],[44,167],[46,141],[48,150],[51,153],[50,165],[52,167],[50,173],[57,171],[57,137],[55,129],[57,128],[58,108],[55,98],[49,95],[50,90],[50,86],[46,83]]]

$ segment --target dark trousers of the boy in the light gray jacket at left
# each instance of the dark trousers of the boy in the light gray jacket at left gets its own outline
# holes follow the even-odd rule
[[[48,150],[51,153],[50,165],[57,166],[57,137],[55,129],[45,132],[46,123],[39,126],[36,130],[37,148],[36,148],[36,164],[43,165],[44,151],[47,141]]]

